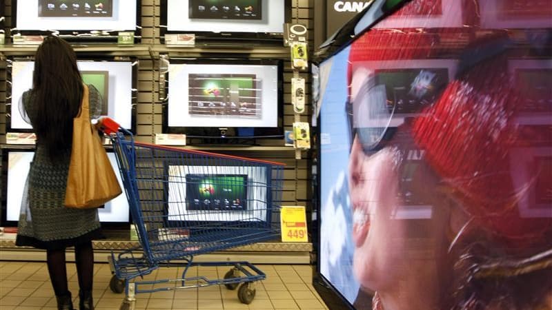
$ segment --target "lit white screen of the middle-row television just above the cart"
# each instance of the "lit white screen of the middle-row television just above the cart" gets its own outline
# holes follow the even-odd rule
[[[171,63],[168,87],[168,127],[278,126],[277,65]]]

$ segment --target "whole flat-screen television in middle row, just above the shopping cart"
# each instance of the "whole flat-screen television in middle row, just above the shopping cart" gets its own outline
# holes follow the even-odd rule
[[[199,138],[281,137],[282,62],[171,59],[163,131]]]

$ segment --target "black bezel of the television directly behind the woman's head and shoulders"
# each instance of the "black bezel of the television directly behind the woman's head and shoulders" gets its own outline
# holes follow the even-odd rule
[[[20,56],[10,56],[8,58],[8,61],[10,63],[13,63],[14,61],[34,61],[34,56],[28,56],[28,57],[20,57]],[[83,56],[79,57],[77,54],[77,61],[96,61],[96,62],[129,62],[131,63],[132,68],[132,90],[130,94],[130,100],[131,100],[131,108],[130,108],[130,128],[126,128],[132,134],[136,134],[137,130],[137,101],[138,101],[138,59],[135,56],[128,57],[127,59],[118,59],[117,57],[109,57],[109,56]],[[11,76],[11,69],[6,70],[8,71],[8,81],[12,81]],[[14,106],[14,103],[12,103],[12,87],[11,83],[6,83],[6,132],[27,132],[32,133],[32,129],[21,129],[21,128],[12,128],[12,107]],[[18,103],[15,103],[17,107]],[[117,120],[115,120],[117,121]]]

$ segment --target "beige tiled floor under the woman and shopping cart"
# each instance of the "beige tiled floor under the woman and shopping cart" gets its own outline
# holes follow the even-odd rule
[[[230,291],[218,285],[179,291],[158,291],[136,295],[136,309],[328,309],[311,285],[311,266],[257,265],[266,280],[256,285],[257,293],[250,304],[242,304],[237,290]],[[181,267],[161,267],[144,280],[175,279]],[[222,278],[229,267],[199,267],[188,271],[187,277],[197,273],[207,278]],[[78,306],[78,283],[74,263],[67,264],[69,289],[74,306]],[[119,309],[123,294],[109,288],[109,265],[96,264],[94,301],[97,310]],[[0,262],[0,309],[57,309],[48,278],[46,262]]]

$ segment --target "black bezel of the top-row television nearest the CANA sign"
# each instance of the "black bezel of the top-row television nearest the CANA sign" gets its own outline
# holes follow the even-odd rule
[[[213,43],[224,42],[233,45],[242,45],[242,41],[250,41],[260,43],[281,43],[284,39],[284,28],[282,32],[212,32],[212,31],[186,31],[186,30],[168,30],[167,29],[167,6],[168,0],[161,0],[160,12],[160,40],[161,43],[165,43],[165,34],[182,34],[191,33],[195,34],[196,45],[199,43]],[[189,0],[187,0],[189,1]],[[268,0],[270,1],[270,0]],[[188,2],[189,3],[189,2]],[[186,17],[188,18],[188,17]],[[291,21],[291,0],[284,0],[284,23]]]

